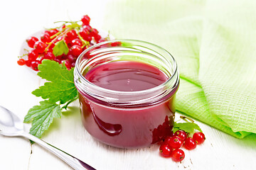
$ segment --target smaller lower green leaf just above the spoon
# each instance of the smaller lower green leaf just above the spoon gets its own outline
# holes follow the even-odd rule
[[[53,118],[61,117],[60,106],[50,101],[41,101],[40,106],[33,106],[24,118],[24,123],[32,121],[31,135],[41,137],[43,132],[48,130]]]

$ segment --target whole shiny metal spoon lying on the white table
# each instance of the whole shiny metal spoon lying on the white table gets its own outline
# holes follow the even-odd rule
[[[9,137],[26,137],[29,140],[38,143],[38,145],[48,149],[48,151],[53,152],[53,154],[60,157],[60,159],[63,159],[63,161],[69,164],[73,169],[95,170],[92,166],[85,164],[85,162],[82,162],[80,159],[63,152],[57,147],[53,147],[53,145],[38,139],[38,137],[24,132],[21,120],[14,113],[2,106],[0,106],[0,134]]]

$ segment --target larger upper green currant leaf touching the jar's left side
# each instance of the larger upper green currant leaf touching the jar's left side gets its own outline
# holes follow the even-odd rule
[[[78,96],[78,91],[74,84],[74,69],[68,70],[66,67],[51,60],[43,60],[38,66],[38,76],[50,82],[46,82],[39,89],[32,92],[35,96],[49,99],[50,102],[60,101],[61,104],[73,101]]]

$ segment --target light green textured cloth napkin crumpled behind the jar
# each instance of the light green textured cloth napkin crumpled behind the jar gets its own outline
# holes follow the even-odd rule
[[[256,133],[255,9],[247,0],[112,1],[104,28],[168,50],[181,77],[176,109],[242,138]]]

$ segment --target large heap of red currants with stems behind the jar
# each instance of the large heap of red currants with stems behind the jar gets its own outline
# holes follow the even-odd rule
[[[34,36],[26,40],[32,49],[19,58],[18,65],[26,65],[37,71],[38,64],[47,59],[64,63],[70,69],[75,67],[75,61],[83,50],[107,40],[99,35],[96,28],[90,26],[90,17],[87,15],[82,16],[80,21],[60,22],[63,22],[62,26],[45,30],[40,40]],[[60,42],[62,45],[58,45]],[[54,49],[56,45],[58,47]]]

